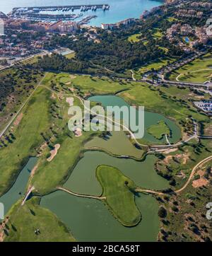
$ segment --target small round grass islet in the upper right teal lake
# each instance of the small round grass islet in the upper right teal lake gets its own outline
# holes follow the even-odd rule
[[[147,132],[152,134],[156,139],[162,139],[165,134],[170,135],[170,128],[165,121],[161,120],[158,124],[148,127]]]

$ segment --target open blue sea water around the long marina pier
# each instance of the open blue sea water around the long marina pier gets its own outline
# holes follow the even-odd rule
[[[96,15],[95,18],[90,21],[90,25],[100,26],[101,23],[116,23],[122,21],[125,18],[139,18],[141,13],[151,8],[160,6],[161,1],[153,0],[0,0],[0,11],[8,13],[14,7],[23,6],[56,6],[56,5],[74,5],[74,4],[109,4],[110,11],[98,10],[96,12],[86,11],[83,16]],[[80,11],[74,11],[73,13],[79,13]],[[69,12],[66,12],[69,13]]]

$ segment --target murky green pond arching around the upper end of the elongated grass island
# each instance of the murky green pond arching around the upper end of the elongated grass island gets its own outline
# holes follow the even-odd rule
[[[69,180],[64,187],[80,194],[100,195],[102,188],[95,177],[98,165],[112,165],[122,171],[124,175],[134,180],[137,186],[146,189],[163,190],[168,187],[168,182],[154,169],[157,158],[148,155],[143,162],[126,158],[116,158],[100,151],[87,151],[84,157],[73,169]]]

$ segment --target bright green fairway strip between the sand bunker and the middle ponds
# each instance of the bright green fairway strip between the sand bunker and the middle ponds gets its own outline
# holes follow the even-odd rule
[[[61,147],[57,156],[51,162],[47,162],[46,158],[40,159],[35,176],[30,182],[36,192],[47,194],[64,184],[83,151],[84,143],[92,134],[93,132],[84,132],[83,136],[73,137],[73,139],[65,135],[60,136]]]

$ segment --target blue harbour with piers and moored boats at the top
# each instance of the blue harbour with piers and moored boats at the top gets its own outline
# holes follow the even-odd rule
[[[36,0],[36,1],[27,1],[27,0],[8,0],[3,6],[1,6],[1,11],[13,15],[18,8],[28,8],[28,16],[35,14],[52,14],[52,15],[61,15],[63,14],[64,21],[73,21],[71,15],[76,16],[74,21],[81,21],[86,16],[96,16],[88,21],[88,25],[100,27],[102,23],[118,23],[119,21],[124,21],[128,18],[139,18],[143,11],[150,11],[156,6],[160,6],[161,1],[153,0],[134,0],[134,4],[131,4],[128,0]],[[105,11],[103,6],[105,5]],[[18,7],[20,6],[20,7]],[[87,11],[83,11],[86,6]],[[96,6],[96,8],[95,8]],[[109,6],[109,8],[107,8]],[[36,7],[40,8],[36,13]],[[34,11],[33,11],[34,8]],[[65,15],[69,14],[69,18]],[[15,18],[22,18],[21,16],[14,16]],[[28,18],[23,16],[23,18]],[[59,17],[58,17],[59,18]],[[40,21],[40,18],[28,18],[30,20]],[[52,16],[45,18],[42,21],[51,21]],[[59,19],[57,19],[59,20]],[[52,21],[57,21],[55,18]],[[85,23],[84,23],[85,24]]]

